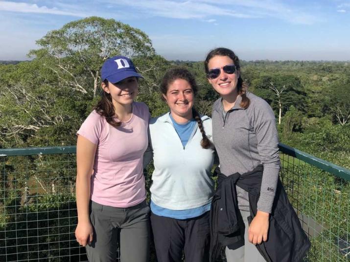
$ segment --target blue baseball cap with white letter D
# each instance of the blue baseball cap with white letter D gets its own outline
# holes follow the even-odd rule
[[[107,79],[111,83],[117,83],[130,76],[143,78],[136,71],[133,62],[125,56],[114,56],[107,59],[102,65],[102,81]]]

